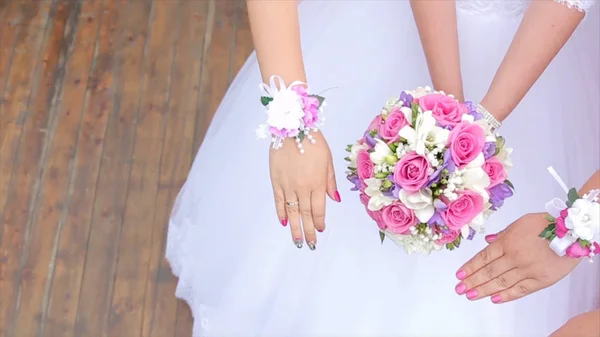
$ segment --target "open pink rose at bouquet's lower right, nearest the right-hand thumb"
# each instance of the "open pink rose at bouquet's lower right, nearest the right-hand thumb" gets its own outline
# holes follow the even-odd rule
[[[483,197],[466,190],[448,205],[448,209],[442,213],[442,218],[448,228],[458,231],[464,225],[468,225],[481,211],[483,211]]]

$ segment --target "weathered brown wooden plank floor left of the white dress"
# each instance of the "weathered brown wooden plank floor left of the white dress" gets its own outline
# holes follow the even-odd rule
[[[0,337],[191,336],[170,207],[243,1],[0,0]]]

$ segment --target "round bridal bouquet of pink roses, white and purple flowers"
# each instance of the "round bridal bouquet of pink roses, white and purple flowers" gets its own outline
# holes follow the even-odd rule
[[[474,104],[430,88],[389,100],[347,151],[348,180],[381,241],[408,254],[459,247],[513,195],[504,138]]]

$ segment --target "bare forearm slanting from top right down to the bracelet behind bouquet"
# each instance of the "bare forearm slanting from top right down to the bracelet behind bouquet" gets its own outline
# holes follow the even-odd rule
[[[500,121],[508,117],[583,16],[577,9],[552,0],[532,1],[482,105]]]

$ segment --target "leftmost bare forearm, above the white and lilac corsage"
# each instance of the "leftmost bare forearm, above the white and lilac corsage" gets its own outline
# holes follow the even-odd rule
[[[247,0],[252,40],[263,81],[306,81],[296,0]]]

